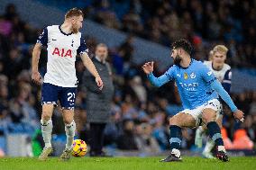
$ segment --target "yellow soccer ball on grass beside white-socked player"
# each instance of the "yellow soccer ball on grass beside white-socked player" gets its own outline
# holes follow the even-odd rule
[[[81,139],[75,139],[73,141],[72,156],[84,157],[87,154],[87,143]]]

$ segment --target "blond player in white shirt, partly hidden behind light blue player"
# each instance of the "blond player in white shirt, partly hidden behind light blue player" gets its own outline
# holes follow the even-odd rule
[[[217,45],[210,51],[209,61],[204,64],[214,73],[215,77],[224,86],[227,93],[230,93],[232,72],[231,67],[224,63],[228,49],[224,45]],[[220,114],[217,123],[222,128],[223,114]],[[202,136],[206,131],[206,126],[200,126],[196,132],[195,144],[198,148],[202,148]],[[204,148],[203,156],[206,158],[215,158],[211,150],[215,147],[212,139],[207,139],[206,148]]]

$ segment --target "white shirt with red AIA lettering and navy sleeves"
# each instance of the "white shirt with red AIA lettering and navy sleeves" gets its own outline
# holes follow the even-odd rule
[[[81,33],[65,33],[59,25],[45,28],[37,40],[47,46],[48,61],[44,83],[62,87],[78,86],[75,61],[77,54],[87,53],[88,49]]]

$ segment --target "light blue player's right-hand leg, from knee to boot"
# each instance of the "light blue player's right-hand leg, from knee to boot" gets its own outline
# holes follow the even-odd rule
[[[224,141],[222,139],[221,130],[216,123],[216,111],[211,108],[206,108],[203,110],[202,119],[209,130],[209,135],[211,139],[215,141],[217,146],[217,154],[216,157],[222,161],[228,161],[228,157],[226,155],[226,151],[224,148]]]

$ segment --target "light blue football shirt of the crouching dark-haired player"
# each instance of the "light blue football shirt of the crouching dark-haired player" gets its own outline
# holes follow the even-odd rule
[[[191,58],[191,63],[187,68],[176,65],[169,67],[169,70],[158,78],[159,84],[156,86],[174,80],[178,86],[183,108],[195,109],[212,99],[218,98],[218,94],[210,85],[215,79],[215,75],[206,65]],[[154,82],[151,83],[154,84]]]

